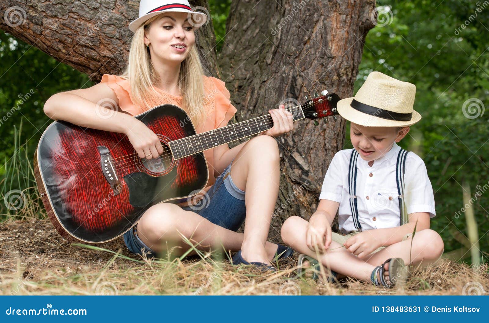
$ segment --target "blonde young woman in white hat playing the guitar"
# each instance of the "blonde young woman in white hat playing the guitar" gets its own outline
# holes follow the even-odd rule
[[[226,126],[236,108],[224,82],[203,75],[194,31],[196,21],[202,24],[207,17],[190,9],[186,0],[142,0],[140,17],[130,24],[134,36],[124,74],[106,74],[95,86],[53,95],[44,105],[46,115],[124,133],[139,157],[147,159],[163,152],[156,134],[133,117],[149,108],[183,108],[198,133]],[[275,257],[289,256],[291,249],[268,242],[267,235],[279,188],[279,150],[273,137],[292,130],[293,124],[284,106],[269,112],[273,128],[233,149],[222,145],[204,152],[210,170],[208,205],[150,207],[124,234],[129,250],[154,256],[177,247],[173,254],[181,255],[189,249],[184,242],[189,239],[203,250],[223,246],[239,251],[233,263],[268,269]],[[244,219],[244,234],[237,233]]]

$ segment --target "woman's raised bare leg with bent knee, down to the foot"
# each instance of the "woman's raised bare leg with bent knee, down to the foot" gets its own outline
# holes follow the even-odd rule
[[[261,135],[248,140],[231,165],[234,184],[246,192],[246,220],[241,252],[248,262],[270,263],[266,242],[278,197],[279,161],[277,141]]]

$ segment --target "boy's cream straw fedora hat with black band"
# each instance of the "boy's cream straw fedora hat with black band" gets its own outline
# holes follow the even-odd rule
[[[372,72],[355,97],[340,100],[338,113],[365,127],[407,127],[421,120],[413,110],[416,86]]]

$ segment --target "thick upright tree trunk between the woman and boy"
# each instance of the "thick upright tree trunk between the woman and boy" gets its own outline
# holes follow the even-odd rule
[[[374,7],[375,0],[233,1],[218,61],[237,118],[267,113],[286,98],[302,104],[324,89],[351,96]],[[290,215],[315,211],[330,161],[344,146],[345,120],[332,121],[297,121],[277,138],[281,180],[271,238]]]

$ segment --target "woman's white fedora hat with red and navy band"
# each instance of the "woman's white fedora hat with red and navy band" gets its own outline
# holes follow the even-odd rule
[[[129,29],[135,32],[144,22],[165,12],[186,12],[192,15],[195,22],[191,22],[191,25],[195,27],[194,29],[198,29],[207,22],[207,15],[203,12],[193,11],[195,8],[197,7],[191,8],[187,0],[141,0],[139,2],[139,18],[129,24]]]

